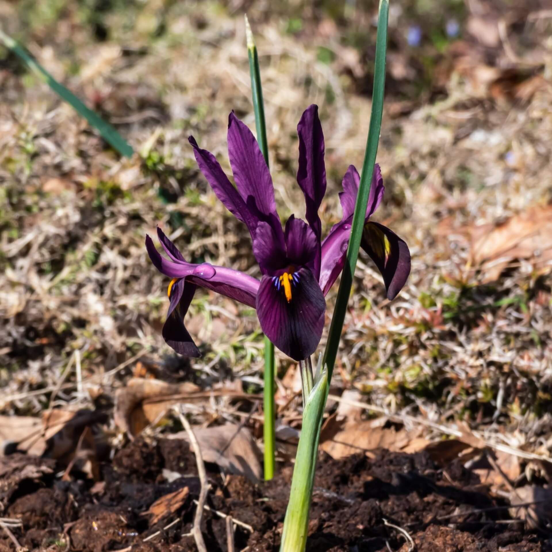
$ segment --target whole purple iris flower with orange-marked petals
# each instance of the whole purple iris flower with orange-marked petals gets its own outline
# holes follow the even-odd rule
[[[230,114],[228,153],[236,188],[215,156],[201,150],[190,136],[198,166],[217,198],[250,231],[253,254],[262,278],[259,281],[237,270],[208,263],[188,263],[158,228],[159,241],[169,257],[166,259],[147,236],[146,248],[151,261],[160,272],[172,278],[168,287],[170,305],[163,337],[177,353],[199,356],[199,350],[184,326],[184,316],[197,286],[255,307],[263,332],[291,358],[304,360],[315,352],[324,327],[324,298],[345,263],[360,177],[351,165],[343,178],[343,192],[339,194],[342,220],[322,241],[318,210],[326,193],[326,169],[324,136],[316,105],[311,105],[302,114],[297,131],[297,181],[305,195],[306,222],[291,215],[284,230],[276,211],[270,172],[247,126]],[[410,252],[394,232],[377,222],[368,221],[378,208],[383,193],[383,179],[376,165],[362,247],[383,275],[388,298],[393,299],[410,273]]]

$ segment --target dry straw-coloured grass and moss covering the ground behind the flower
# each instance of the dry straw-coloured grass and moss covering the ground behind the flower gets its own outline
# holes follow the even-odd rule
[[[42,410],[49,395],[25,394],[55,388],[64,370],[73,370],[75,351],[85,381],[146,349],[148,361],[169,378],[208,385],[232,374],[246,387],[261,383],[262,339],[254,311],[224,298],[198,293],[188,314],[203,358],[190,364],[164,344],[167,282],[144,248],[146,233],[159,224],[193,261],[256,274],[245,227],[216,200],[187,142],[193,134],[230,172],[228,113],[234,109],[254,126],[240,6],[152,0],[131,8],[134,24],[128,13],[113,9],[105,14],[110,38],[97,42],[71,3],[41,26],[20,18],[14,4],[2,4],[7,30],[23,33],[48,70],[108,114],[144,155],[119,160],[45,84],[20,71],[2,73],[4,411]],[[352,20],[367,28],[371,13]],[[342,175],[349,163],[362,166],[370,100],[359,91],[369,81],[371,43],[360,54],[343,46],[347,26],[316,13],[304,18],[296,36],[285,33],[285,17],[264,4],[251,8],[250,19],[261,52],[280,215],[304,216],[295,183],[295,125],[308,104],[318,103],[328,172],[322,220],[329,230],[341,216]],[[391,71],[427,54],[405,45],[407,24],[405,14],[391,20],[390,52],[404,57],[390,60]],[[547,30],[550,20],[537,17],[511,37],[513,47],[524,47],[518,55],[542,57],[543,67],[534,71],[544,76],[550,71]],[[475,39],[466,43],[473,46]],[[321,56],[322,45],[335,52],[330,63]],[[501,68],[507,49],[500,43],[491,51],[491,66]],[[474,68],[466,72],[454,65],[454,52],[444,61],[435,49],[429,52],[440,82],[428,84],[419,97],[405,102],[401,96],[412,79],[389,79],[378,154],[386,196],[375,220],[406,239],[412,273],[389,304],[381,278],[361,255],[336,385],[354,386],[372,404],[394,412],[405,409],[438,422],[464,419],[505,433],[509,444],[549,454],[549,279],[523,261],[496,282],[481,284],[460,230],[549,201],[552,92],[544,83],[523,102],[493,96]],[[7,63],[17,67],[14,60]],[[449,67],[443,77],[438,70],[447,63],[457,70]],[[329,312],[336,291],[328,296]],[[280,375],[288,365],[279,358]],[[110,389],[131,368],[90,381]],[[75,383],[76,376],[68,374],[66,381]],[[87,400],[76,389],[63,388],[56,400]],[[15,394],[24,398],[7,400]]]

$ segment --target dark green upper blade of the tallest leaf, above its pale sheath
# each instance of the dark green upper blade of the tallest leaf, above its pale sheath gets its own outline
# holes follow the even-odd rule
[[[374,92],[372,94],[372,109],[370,114],[370,126],[368,129],[368,140],[364,153],[364,163],[357,195],[357,203],[354,208],[353,222],[351,225],[351,237],[347,247],[347,260],[341,274],[341,283],[337,292],[336,307],[333,311],[330,332],[326,351],[324,352],[323,364],[328,367],[328,380],[332,379],[333,365],[336,362],[339,339],[343,329],[351,286],[353,284],[354,269],[357,266],[358,250],[362,230],[364,227],[364,214],[370,193],[370,184],[376,153],[378,152],[379,134],[381,129],[381,118],[383,115],[383,97],[385,88],[385,52],[387,49],[387,25],[389,17],[389,1],[380,0],[378,16],[378,36],[376,38],[376,59],[374,67]]]

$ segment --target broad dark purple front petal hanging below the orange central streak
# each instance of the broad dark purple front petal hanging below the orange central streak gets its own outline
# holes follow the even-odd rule
[[[257,316],[261,328],[280,351],[294,360],[304,360],[316,351],[324,327],[326,301],[316,278],[301,268],[286,299],[273,278],[263,276],[257,294]]]

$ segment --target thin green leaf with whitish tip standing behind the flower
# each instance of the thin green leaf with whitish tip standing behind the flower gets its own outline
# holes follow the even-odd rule
[[[253,109],[255,112],[255,126],[257,128],[257,141],[268,167],[268,142],[267,127],[264,121],[263,88],[261,85],[261,70],[259,69],[259,57],[257,47],[253,40],[251,26],[245,16],[245,30],[247,39],[247,55],[249,57],[249,70],[251,75],[251,92],[253,96]],[[269,481],[274,477],[274,344],[267,336],[264,336],[264,479]]]

